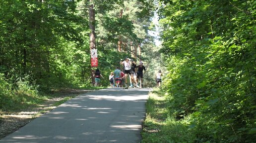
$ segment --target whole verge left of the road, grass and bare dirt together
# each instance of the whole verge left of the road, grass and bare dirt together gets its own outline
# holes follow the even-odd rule
[[[11,91],[5,96],[5,104],[0,105],[0,140],[79,94],[102,88],[58,89],[51,93],[27,88]]]

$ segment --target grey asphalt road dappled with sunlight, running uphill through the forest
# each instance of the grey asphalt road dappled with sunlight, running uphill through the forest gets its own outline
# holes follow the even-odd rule
[[[0,143],[139,143],[150,90],[107,88],[79,95]]]

